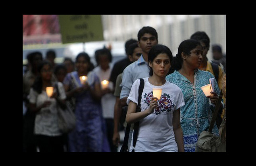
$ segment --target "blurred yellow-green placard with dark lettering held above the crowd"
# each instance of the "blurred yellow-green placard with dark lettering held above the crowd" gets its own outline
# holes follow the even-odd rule
[[[101,15],[58,15],[62,43],[102,41]]]

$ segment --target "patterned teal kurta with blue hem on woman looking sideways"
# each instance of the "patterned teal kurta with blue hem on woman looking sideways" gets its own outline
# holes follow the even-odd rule
[[[195,70],[194,84],[177,70],[166,76],[166,80],[174,83],[183,92],[185,106],[181,107],[181,128],[185,152],[194,152],[198,136],[202,131],[208,130],[212,119],[209,99],[206,98],[201,87],[210,83],[214,78],[210,72]],[[214,90],[219,94],[218,83],[215,80]],[[212,132],[218,135],[219,130],[214,124]]]

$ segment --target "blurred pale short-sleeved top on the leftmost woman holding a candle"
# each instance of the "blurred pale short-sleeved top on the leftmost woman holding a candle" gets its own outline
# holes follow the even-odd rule
[[[60,92],[59,98],[64,100],[66,98],[65,89],[61,82],[58,82],[58,88]],[[54,92],[56,89],[54,88]],[[36,106],[42,105],[46,100],[51,101],[49,107],[40,109],[37,112],[35,118],[35,134],[42,134],[46,136],[60,136],[62,132],[58,126],[58,116],[57,116],[57,101],[55,98],[49,98],[46,91],[38,94],[33,88],[29,92],[29,102],[36,104]]]

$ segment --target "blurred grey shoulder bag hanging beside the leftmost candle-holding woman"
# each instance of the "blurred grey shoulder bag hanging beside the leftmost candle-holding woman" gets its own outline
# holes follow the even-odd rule
[[[57,95],[59,96],[59,87],[58,83],[55,83]],[[62,109],[57,104],[57,115],[58,115],[58,126],[62,133],[69,133],[75,128],[76,118],[75,113],[68,106],[65,109]]]

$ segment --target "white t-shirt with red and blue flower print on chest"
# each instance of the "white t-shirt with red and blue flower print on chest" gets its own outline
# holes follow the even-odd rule
[[[139,85],[140,80],[137,79],[131,87],[127,104],[130,101],[138,104]],[[141,111],[149,108],[153,88],[162,88],[161,98],[158,100],[158,108],[154,110],[154,113],[139,122],[135,152],[178,152],[172,117],[173,111],[185,105],[183,93],[177,85],[169,81],[166,81],[164,85],[154,86],[148,82],[148,77],[146,77],[144,78],[144,89],[141,98]],[[133,149],[132,144],[130,151]]]

